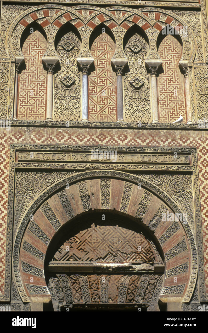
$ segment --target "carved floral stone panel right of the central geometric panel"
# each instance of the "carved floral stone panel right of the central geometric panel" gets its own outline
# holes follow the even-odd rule
[[[135,33],[126,43],[124,52],[129,71],[124,76],[125,118],[128,122],[150,121],[149,75],[144,66],[147,43]]]

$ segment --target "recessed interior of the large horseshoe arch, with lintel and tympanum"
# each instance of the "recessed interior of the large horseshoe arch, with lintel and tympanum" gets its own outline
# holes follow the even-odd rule
[[[153,238],[142,224],[115,212],[86,213],[66,223],[44,265],[54,311],[145,311],[157,300],[164,273]],[[161,267],[155,271],[156,262]]]

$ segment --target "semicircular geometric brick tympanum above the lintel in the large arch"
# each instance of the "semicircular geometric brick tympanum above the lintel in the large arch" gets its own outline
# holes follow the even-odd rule
[[[151,245],[141,234],[118,225],[88,224],[85,230],[61,246],[53,261],[152,263],[154,255]]]

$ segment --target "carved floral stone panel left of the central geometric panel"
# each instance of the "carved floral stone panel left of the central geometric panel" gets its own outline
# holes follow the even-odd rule
[[[61,70],[55,74],[54,118],[77,121],[80,118],[80,73],[76,59],[80,51],[79,38],[68,32],[57,45]]]

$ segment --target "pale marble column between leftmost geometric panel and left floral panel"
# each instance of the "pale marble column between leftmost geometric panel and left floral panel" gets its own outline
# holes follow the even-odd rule
[[[47,80],[47,101],[46,101],[46,120],[53,120],[53,70],[54,64],[46,64],[48,80]]]

